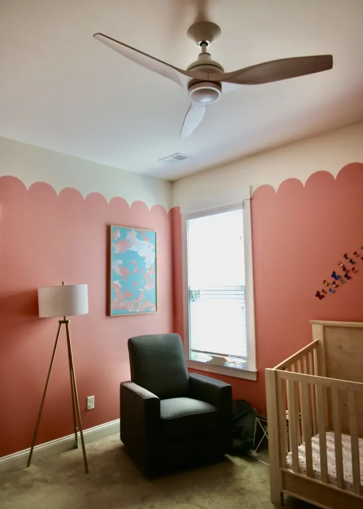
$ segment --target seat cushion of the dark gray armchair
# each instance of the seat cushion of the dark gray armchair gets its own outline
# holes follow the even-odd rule
[[[211,405],[191,398],[160,401],[161,437],[179,438],[215,431],[219,412]]]

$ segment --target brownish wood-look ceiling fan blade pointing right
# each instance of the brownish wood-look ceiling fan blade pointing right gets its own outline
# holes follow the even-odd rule
[[[264,62],[234,72],[208,74],[208,78],[222,83],[258,85],[328,71],[332,66],[331,55],[297,56],[296,58]]]

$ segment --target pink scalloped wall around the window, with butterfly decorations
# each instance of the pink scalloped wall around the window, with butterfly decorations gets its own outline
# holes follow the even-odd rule
[[[174,248],[181,253],[180,213],[174,211]],[[259,187],[252,199],[258,381],[232,377],[234,398],[265,408],[264,369],[312,339],[310,320],[363,321],[363,261],[346,285],[322,300],[315,297],[339,273],[345,252],[363,256],[363,164],[345,166],[334,179],[313,174],[305,186],[288,179],[278,191]],[[181,274],[181,256],[175,263]],[[346,264],[347,266],[349,263]],[[176,330],[183,331],[180,277],[175,279]]]

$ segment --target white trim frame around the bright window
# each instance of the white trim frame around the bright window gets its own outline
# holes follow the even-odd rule
[[[249,191],[249,190],[248,190]],[[203,204],[205,205],[205,204]],[[208,204],[211,205],[211,204]],[[188,301],[188,246],[187,246],[187,220],[203,217],[212,213],[228,212],[236,208],[243,209],[243,232],[244,232],[244,259],[246,277],[246,308],[247,308],[247,349],[248,370],[232,367],[206,364],[195,359],[190,359],[189,348],[189,301]],[[203,206],[194,211],[182,213],[182,265],[183,265],[183,304],[184,304],[184,352],[187,366],[199,371],[227,375],[247,380],[257,380],[256,369],[256,335],[255,335],[255,305],[254,305],[254,271],[252,257],[252,229],[251,229],[251,205],[248,198],[227,205],[216,205],[204,208]]]

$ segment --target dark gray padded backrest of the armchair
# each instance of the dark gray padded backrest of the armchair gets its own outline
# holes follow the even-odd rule
[[[128,340],[131,380],[161,400],[188,393],[189,375],[179,334],[150,334]]]

